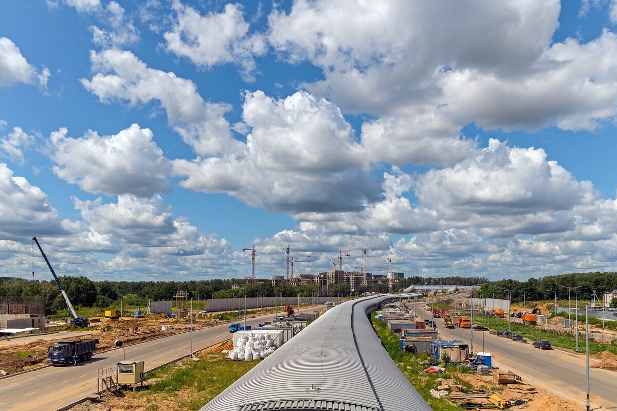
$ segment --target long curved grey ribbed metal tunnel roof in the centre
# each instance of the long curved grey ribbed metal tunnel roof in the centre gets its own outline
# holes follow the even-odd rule
[[[329,309],[201,411],[431,411],[366,317],[399,297],[365,297]]]

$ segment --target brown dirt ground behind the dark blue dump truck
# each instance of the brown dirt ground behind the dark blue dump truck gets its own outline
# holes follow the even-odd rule
[[[194,329],[212,326],[217,322],[198,321],[194,323]],[[170,331],[161,331],[162,325],[172,325]],[[114,347],[114,341],[122,339],[124,344],[135,344],[135,342],[146,341],[172,334],[186,331],[190,325],[188,323],[168,324],[167,322],[137,322],[133,320],[125,323],[115,323],[109,325],[108,331],[94,331],[93,334],[85,336],[83,339],[98,339],[96,351],[104,351]],[[122,335],[124,334],[124,335]],[[31,368],[41,367],[47,364],[48,348],[57,341],[78,341],[81,338],[59,338],[59,339],[37,339],[28,344],[19,346],[0,347],[0,370],[8,374],[30,370]]]

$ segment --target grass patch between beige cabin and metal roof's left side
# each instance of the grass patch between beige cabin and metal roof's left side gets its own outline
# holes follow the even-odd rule
[[[162,394],[172,397],[178,410],[198,410],[259,363],[231,361],[223,354],[203,354],[199,358],[146,373],[146,381],[154,382],[134,395],[152,404],[152,410],[159,409],[156,399]]]

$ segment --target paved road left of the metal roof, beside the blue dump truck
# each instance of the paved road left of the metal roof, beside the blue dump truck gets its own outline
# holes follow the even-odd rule
[[[313,307],[314,309],[314,307]],[[310,311],[313,309],[304,309]],[[270,313],[246,320],[247,325],[269,321]],[[229,324],[193,331],[193,349],[198,351],[230,338]],[[181,333],[125,347],[127,360],[145,361],[146,370],[191,352],[190,333]],[[55,410],[96,391],[99,368],[122,361],[122,348],[95,354],[77,367],[47,367],[0,380],[0,410]]]

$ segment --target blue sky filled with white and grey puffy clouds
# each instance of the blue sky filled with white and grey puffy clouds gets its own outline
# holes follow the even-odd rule
[[[3,2],[2,275],[615,270],[617,2],[338,3]]]

